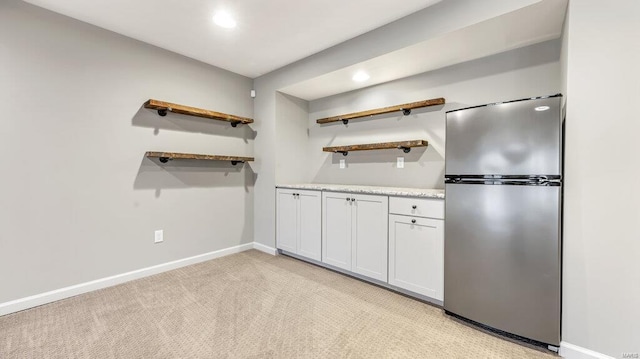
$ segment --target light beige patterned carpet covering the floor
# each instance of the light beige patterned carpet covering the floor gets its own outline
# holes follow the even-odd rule
[[[248,251],[0,317],[0,358],[557,358]]]

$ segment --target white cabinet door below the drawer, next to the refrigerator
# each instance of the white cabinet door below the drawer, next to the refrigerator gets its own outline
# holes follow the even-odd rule
[[[443,222],[389,216],[389,284],[443,300]]]

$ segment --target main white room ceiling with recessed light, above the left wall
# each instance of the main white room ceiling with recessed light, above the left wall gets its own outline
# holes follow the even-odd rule
[[[25,0],[251,78],[441,0]],[[214,25],[216,11],[237,27]]]

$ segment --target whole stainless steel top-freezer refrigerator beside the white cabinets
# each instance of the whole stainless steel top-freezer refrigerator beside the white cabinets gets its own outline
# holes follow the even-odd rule
[[[560,344],[562,96],[446,114],[444,308]]]

